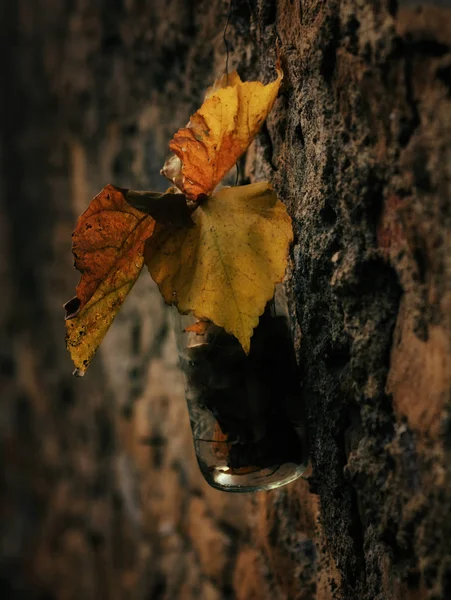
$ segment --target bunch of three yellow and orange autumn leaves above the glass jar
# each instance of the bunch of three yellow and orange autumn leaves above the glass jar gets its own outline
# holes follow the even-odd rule
[[[84,375],[144,264],[164,300],[234,335],[244,352],[293,238],[291,219],[268,182],[215,188],[247,150],[282,81],[242,82],[236,72],[209,88],[169,144],[163,194],[107,185],[73,233],[77,295],[67,302],[67,347]]]

